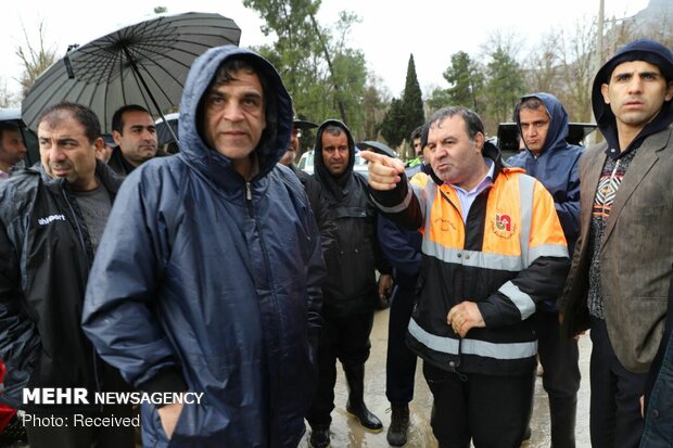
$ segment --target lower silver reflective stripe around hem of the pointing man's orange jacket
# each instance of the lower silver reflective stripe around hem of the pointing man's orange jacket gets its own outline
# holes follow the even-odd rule
[[[477,355],[494,359],[525,359],[537,353],[537,341],[524,343],[491,343],[478,340],[437,336],[423,330],[414,318],[409,321],[409,334],[426,347],[448,355]]]

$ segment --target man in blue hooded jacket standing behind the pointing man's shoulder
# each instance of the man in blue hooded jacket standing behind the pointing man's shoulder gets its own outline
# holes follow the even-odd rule
[[[572,253],[580,234],[579,161],[584,149],[568,144],[568,113],[549,93],[521,97],[515,110],[524,150],[507,163],[525,169],[551,193],[563,228],[568,251]],[[577,391],[580,389],[580,350],[577,341],[561,337],[556,299],[537,305],[537,354],[543,367],[543,386],[549,396],[551,445],[574,448]]]

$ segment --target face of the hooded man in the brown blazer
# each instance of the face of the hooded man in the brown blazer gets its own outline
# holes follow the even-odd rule
[[[617,118],[618,129],[639,130],[673,98],[673,81],[658,66],[645,61],[624,62],[612,71],[609,84],[600,87],[602,98]]]

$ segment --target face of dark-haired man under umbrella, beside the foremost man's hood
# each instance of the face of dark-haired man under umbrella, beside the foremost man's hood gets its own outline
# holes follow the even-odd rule
[[[139,166],[156,155],[156,127],[152,115],[142,111],[129,111],[122,115],[122,132],[112,131],[115,143],[119,145],[124,158]]]

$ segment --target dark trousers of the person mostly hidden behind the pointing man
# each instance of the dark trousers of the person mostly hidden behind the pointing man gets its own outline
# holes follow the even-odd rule
[[[407,405],[414,399],[416,354],[406,344],[414,300],[414,290],[397,286],[391,302],[385,359],[385,396],[392,405]]]

